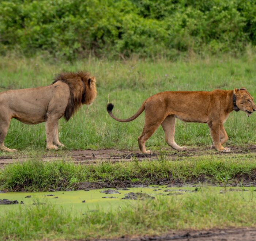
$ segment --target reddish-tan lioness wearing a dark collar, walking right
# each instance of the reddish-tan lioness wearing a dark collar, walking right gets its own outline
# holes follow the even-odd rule
[[[219,152],[230,152],[222,145],[227,141],[227,133],[223,127],[227,116],[233,110],[240,109],[250,116],[256,110],[253,97],[245,88],[234,90],[215,89],[214,91],[165,91],[147,98],[135,115],[128,119],[118,119],[112,114],[113,104],[109,103],[109,115],[120,122],[136,119],[145,110],[145,124],[138,137],[142,153],[152,154],[146,150],[145,142],[155,130],[162,125],[165,141],[177,151],[185,151],[187,147],[178,146],[174,141],[175,117],[185,122],[207,123],[210,129],[213,148]]]

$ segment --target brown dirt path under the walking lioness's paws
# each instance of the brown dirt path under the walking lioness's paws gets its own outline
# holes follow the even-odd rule
[[[256,153],[256,145],[238,147],[231,147],[230,153],[221,153],[216,152],[209,147],[199,147],[199,148],[189,148],[187,152],[176,152],[172,149],[166,149],[159,151],[154,151],[152,155],[142,154],[139,151],[127,151],[127,150],[114,150],[114,149],[102,149],[102,150],[74,150],[67,151],[64,154],[59,154],[56,152],[56,155],[52,153],[46,154],[40,158],[45,161],[54,161],[54,160],[63,160],[70,159],[74,160],[75,163],[96,163],[101,161],[131,161],[137,158],[138,160],[148,159],[148,160],[158,160],[161,158],[167,158],[169,160],[177,160],[182,157],[196,157],[204,155],[231,155],[231,154],[247,154],[247,153]],[[13,163],[16,161],[24,161],[28,157],[22,156],[19,157],[19,154],[14,154],[13,156],[0,156],[0,168],[3,168],[4,165]]]

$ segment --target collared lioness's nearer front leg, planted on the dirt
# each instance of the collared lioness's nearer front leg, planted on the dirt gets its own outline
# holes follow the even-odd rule
[[[219,151],[219,152],[230,152],[229,148],[224,148],[221,144],[221,140],[220,140],[220,132],[221,132],[221,125],[218,122],[209,122],[207,123],[208,127],[210,129],[210,133],[211,133],[211,138],[212,138],[212,142],[214,147]],[[223,127],[224,129],[224,127]],[[226,131],[225,131],[226,133]]]

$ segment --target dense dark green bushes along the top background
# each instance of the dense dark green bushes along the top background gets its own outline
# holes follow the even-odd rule
[[[4,0],[0,52],[175,58],[256,44],[256,0]]]

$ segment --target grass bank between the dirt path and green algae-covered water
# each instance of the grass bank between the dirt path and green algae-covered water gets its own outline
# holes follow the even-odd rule
[[[256,154],[235,156],[181,157],[176,161],[102,162],[76,165],[72,161],[16,162],[0,170],[0,190],[46,191],[49,188],[76,188],[79,182],[140,181],[154,184],[169,180],[197,182],[205,177],[212,183],[253,180],[256,170]]]

